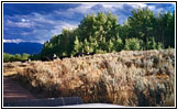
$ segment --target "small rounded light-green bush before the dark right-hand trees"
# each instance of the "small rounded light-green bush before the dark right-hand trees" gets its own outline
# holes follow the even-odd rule
[[[126,51],[136,51],[140,50],[140,40],[138,38],[126,38],[124,50]]]

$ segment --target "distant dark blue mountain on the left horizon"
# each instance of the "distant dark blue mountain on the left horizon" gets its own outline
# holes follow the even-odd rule
[[[40,43],[3,43],[3,53],[9,54],[37,54],[41,52],[43,44]]]

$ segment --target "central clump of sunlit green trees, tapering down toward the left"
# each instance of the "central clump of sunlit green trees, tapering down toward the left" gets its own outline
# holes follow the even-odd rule
[[[110,12],[87,15],[75,30],[64,30],[44,44],[42,56],[71,56],[77,53],[109,53],[121,51],[118,19]],[[116,38],[116,41],[115,41]],[[116,47],[114,47],[116,45]]]

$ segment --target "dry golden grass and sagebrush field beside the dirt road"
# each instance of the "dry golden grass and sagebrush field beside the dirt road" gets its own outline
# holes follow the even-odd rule
[[[3,76],[14,76],[43,98],[77,96],[86,103],[175,106],[175,50],[3,63]]]

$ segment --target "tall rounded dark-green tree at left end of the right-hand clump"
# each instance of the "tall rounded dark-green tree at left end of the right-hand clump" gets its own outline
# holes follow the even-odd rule
[[[136,36],[137,38],[143,40],[146,44],[149,36],[154,36],[154,13],[148,8],[133,10],[132,16],[127,19],[130,37]]]

